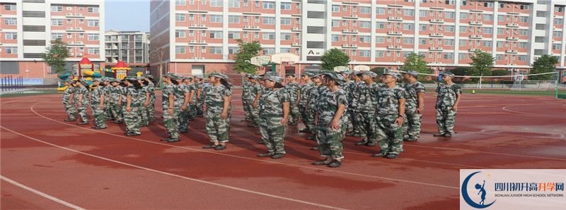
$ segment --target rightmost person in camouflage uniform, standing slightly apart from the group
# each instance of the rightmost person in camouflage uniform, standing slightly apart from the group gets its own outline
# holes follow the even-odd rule
[[[458,111],[458,103],[462,98],[462,88],[452,82],[453,73],[444,73],[442,75],[441,84],[437,87],[437,125],[438,132],[435,137],[452,137],[454,135],[454,124],[456,123],[456,113]]]

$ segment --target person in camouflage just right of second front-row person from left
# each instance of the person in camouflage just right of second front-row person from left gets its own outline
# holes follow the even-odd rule
[[[177,79],[177,89],[175,90],[175,113],[178,113],[177,121],[179,123],[179,132],[188,132],[189,127],[189,101],[190,101],[190,89],[189,86],[185,84],[185,81],[189,80],[187,77],[179,77]]]

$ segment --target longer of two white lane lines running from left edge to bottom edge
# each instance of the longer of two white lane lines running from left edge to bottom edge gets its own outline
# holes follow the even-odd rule
[[[151,169],[151,168],[145,168],[145,167],[143,167],[143,166],[137,166],[137,165],[134,165],[134,164],[125,163],[125,162],[117,161],[117,160],[114,160],[114,159],[108,159],[108,158],[105,158],[105,157],[103,157],[103,156],[98,156],[98,155],[95,155],[95,154],[89,154],[89,153],[81,152],[81,151],[78,151],[78,150],[75,150],[75,149],[69,149],[69,148],[67,148],[67,147],[62,147],[62,146],[59,146],[59,145],[57,145],[57,144],[52,144],[52,143],[50,143],[50,142],[44,142],[44,141],[42,141],[42,140],[38,140],[37,138],[30,137],[30,136],[28,136],[28,135],[22,134],[22,133],[20,133],[20,132],[14,131],[14,130],[10,130],[10,129],[4,127],[4,126],[0,126],[0,128],[3,128],[4,130],[8,130],[8,131],[10,131],[10,132],[16,133],[17,135],[21,135],[21,136],[26,137],[26,138],[28,138],[28,139],[30,139],[30,140],[34,140],[34,141],[36,141],[36,142],[41,142],[41,143],[43,143],[43,144],[47,144],[47,145],[50,145],[50,146],[53,146],[53,147],[58,147],[58,148],[60,148],[60,149],[69,150],[69,151],[71,151],[71,152],[76,152],[76,153],[83,154],[83,155],[86,155],[86,156],[91,156],[91,157],[94,157],[94,158],[97,158],[97,159],[103,159],[103,160],[105,160],[105,161],[110,161],[110,162],[112,162],[112,163],[118,163],[118,164],[122,164],[122,165],[125,165],[125,166],[130,166],[130,167],[132,167],[132,168],[139,168],[139,169],[145,170],[145,171],[151,171],[151,172],[154,172],[154,173],[161,173],[161,174],[163,174],[163,175],[170,175],[170,176],[173,176],[173,177],[175,177],[175,178],[181,178],[181,179],[185,179],[185,180],[191,180],[191,181],[195,181],[195,182],[197,182],[197,183],[203,183],[203,184],[207,184],[207,185],[214,185],[214,186],[217,186],[217,187],[224,187],[224,188],[228,188],[228,189],[231,189],[231,190],[237,190],[237,191],[241,191],[241,192],[248,192],[248,193],[252,193],[252,194],[258,194],[258,195],[262,195],[262,196],[265,196],[265,197],[272,197],[272,198],[276,198],[276,199],[284,199],[284,200],[287,200],[287,201],[290,201],[290,202],[298,202],[298,203],[301,203],[301,204],[308,204],[308,205],[311,205],[311,206],[318,206],[318,207],[322,207],[322,208],[326,208],[326,209],[342,209],[342,208],[336,207],[336,206],[328,206],[328,205],[324,205],[324,204],[316,204],[316,203],[313,203],[313,202],[306,202],[306,201],[304,201],[304,200],[292,199],[292,198],[289,198],[289,197],[282,197],[282,196],[278,196],[278,195],[275,195],[275,194],[268,194],[268,193],[264,193],[264,192],[253,191],[253,190],[246,190],[246,189],[243,189],[243,188],[240,188],[240,187],[233,187],[233,186],[230,186],[230,185],[222,185],[222,184],[219,184],[219,183],[212,183],[212,182],[207,182],[207,181],[199,180],[199,179],[195,179],[195,178],[189,178],[189,177],[186,177],[186,176],[183,176],[183,175],[176,175],[176,174],[168,173],[168,172],[165,172],[165,171],[158,171],[158,170]]]

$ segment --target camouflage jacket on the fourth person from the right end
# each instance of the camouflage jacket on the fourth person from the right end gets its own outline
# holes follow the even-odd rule
[[[355,111],[362,113],[375,113],[377,108],[377,92],[381,87],[376,83],[367,85],[362,82],[357,87],[357,106]]]

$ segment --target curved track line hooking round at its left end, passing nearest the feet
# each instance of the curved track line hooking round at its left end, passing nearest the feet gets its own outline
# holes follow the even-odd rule
[[[49,101],[49,100],[46,100],[46,101]],[[459,187],[448,186],[448,185],[437,185],[437,184],[433,184],[433,183],[423,183],[423,182],[417,182],[417,181],[411,181],[411,180],[400,180],[400,179],[395,179],[395,178],[386,178],[386,177],[381,177],[381,176],[376,176],[376,175],[365,175],[365,174],[350,173],[350,172],[345,172],[345,171],[334,171],[334,170],[330,170],[330,169],[326,169],[326,168],[316,168],[316,167],[303,166],[303,165],[297,165],[297,164],[292,164],[292,163],[282,163],[282,162],[277,162],[277,161],[267,161],[267,160],[262,160],[262,159],[257,159],[257,158],[248,158],[248,157],[245,157],[245,156],[237,156],[237,155],[233,155],[233,154],[224,154],[224,153],[219,153],[219,152],[210,152],[210,151],[204,150],[204,149],[194,149],[194,148],[190,148],[190,147],[180,147],[180,146],[176,146],[176,145],[172,145],[172,144],[164,144],[164,143],[161,143],[161,142],[151,142],[151,141],[148,141],[148,140],[141,140],[141,139],[137,139],[137,138],[134,138],[134,137],[128,137],[128,136],[124,136],[124,135],[116,135],[116,134],[113,134],[113,133],[110,133],[110,132],[103,132],[103,131],[101,131],[101,130],[92,130],[92,129],[90,129],[90,128],[83,128],[83,127],[80,127],[80,126],[77,126],[77,125],[71,125],[71,124],[68,124],[68,123],[62,123],[62,122],[59,122],[59,121],[54,120],[54,119],[52,119],[52,118],[48,118],[48,117],[46,117],[46,116],[43,116],[42,114],[37,113],[37,111],[35,111],[35,110],[33,109],[33,106],[35,106],[36,104],[40,104],[40,103],[42,103],[42,102],[44,102],[44,101],[39,101],[39,102],[33,104],[33,105],[30,107],[30,110],[31,110],[33,113],[35,113],[37,116],[41,116],[42,118],[45,118],[45,119],[47,119],[47,120],[49,120],[49,121],[54,121],[54,122],[56,122],[56,123],[61,123],[61,124],[64,124],[64,125],[70,125],[70,126],[73,126],[73,127],[76,127],[76,128],[81,128],[81,129],[85,129],[85,130],[90,130],[90,131],[93,131],[93,132],[100,132],[100,133],[104,133],[104,134],[107,134],[107,135],[113,135],[113,136],[116,136],[116,137],[121,137],[121,138],[129,139],[129,140],[135,140],[135,141],[139,141],[139,142],[148,142],[148,143],[151,143],[151,144],[165,145],[165,146],[168,146],[168,147],[176,147],[176,148],[180,148],[180,149],[188,149],[188,150],[192,150],[192,151],[195,151],[195,152],[205,152],[205,153],[216,154],[216,155],[220,155],[220,156],[230,156],[230,157],[238,158],[238,159],[248,159],[248,160],[251,160],[251,161],[259,161],[259,162],[264,162],[264,163],[275,163],[275,164],[280,164],[280,165],[285,165],[285,166],[294,166],[294,167],[299,167],[299,168],[308,168],[308,169],[312,169],[312,170],[315,170],[315,171],[326,171],[326,172],[329,172],[329,173],[342,173],[342,174],[347,174],[347,175],[357,175],[357,176],[361,176],[361,177],[365,177],[365,178],[376,178],[376,179],[381,179],[381,180],[390,180],[390,181],[396,181],[396,182],[402,182],[402,183],[412,183],[412,184],[417,184],[417,185],[429,185],[429,186],[434,186],[434,187],[446,187],[446,188],[450,188],[450,189],[454,189],[454,190],[459,190],[459,189],[460,189]],[[1,126],[0,126],[0,127],[1,127]],[[5,129],[6,129],[6,128],[5,128]]]

